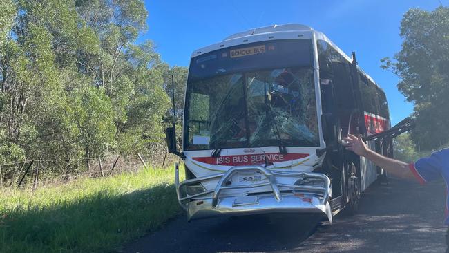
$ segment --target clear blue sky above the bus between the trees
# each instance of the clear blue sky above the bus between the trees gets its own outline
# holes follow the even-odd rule
[[[445,2],[446,0],[441,0]],[[401,50],[399,26],[410,8],[434,10],[439,0],[323,1],[145,1],[151,39],[164,62],[188,66],[193,50],[251,28],[298,23],[324,32],[387,93],[392,124],[410,115],[413,105],[397,91],[397,77],[382,70],[380,59]]]

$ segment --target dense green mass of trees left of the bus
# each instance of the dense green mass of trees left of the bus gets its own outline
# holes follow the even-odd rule
[[[0,163],[163,142],[167,84],[175,75],[180,101],[187,71],[137,44],[141,0],[0,0],[0,13]]]

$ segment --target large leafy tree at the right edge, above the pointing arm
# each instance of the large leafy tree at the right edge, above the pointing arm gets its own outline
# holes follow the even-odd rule
[[[383,68],[400,77],[397,88],[414,102],[412,140],[434,149],[449,140],[449,9],[410,9],[401,21],[403,44]]]

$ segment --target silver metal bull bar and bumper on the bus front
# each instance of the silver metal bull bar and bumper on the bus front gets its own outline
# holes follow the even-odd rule
[[[327,176],[311,172],[281,172],[276,168],[267,169],[258,165],[236,166],[222,174],[205,176],[179,182],[179,169],[175,165],[175,182],[178,200],[187,211],[187,218],[198,219],[212,216],[236,216],[274,212],[319,213],[332,222],[329,205],[331,194],[330,180]],[[265,182],[249,182],[247,185],[229,185],[229,179],[238,173],[257,172],[266,177]],[[290,182],[314,180],[316,185],[285,184],[280,178],[287,177]],[[187,187],[208,180],[218,180],[213,190],[188,194]],[[265,187],[260,194],[247,194],[249,190]],[[231,191],[231,194],[227,194]]]

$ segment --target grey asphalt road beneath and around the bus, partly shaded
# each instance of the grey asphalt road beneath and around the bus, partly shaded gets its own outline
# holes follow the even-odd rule
[[[372,185],[355,216],[242,216],[187,223],[181,216],[119,252],[444,252],[443,182]]]

